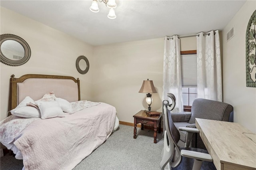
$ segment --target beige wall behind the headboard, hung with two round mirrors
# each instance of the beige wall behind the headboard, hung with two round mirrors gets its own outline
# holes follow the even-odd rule
[[[91,45],[6,8],[1,7],[0,10],[0,34],[20,36],[30,45],[31,49],[30,60],[24,65],[12,67],[0,63],[1,120],[7,115],[9,79],[12,74],[15,77],[28,73],[79,77],[81,99],[92,100],[93,72],[89,69],[88,73],[82,75],[78,73],[75,65],[79,55],[85,55],[90,64],[93,64]]]

